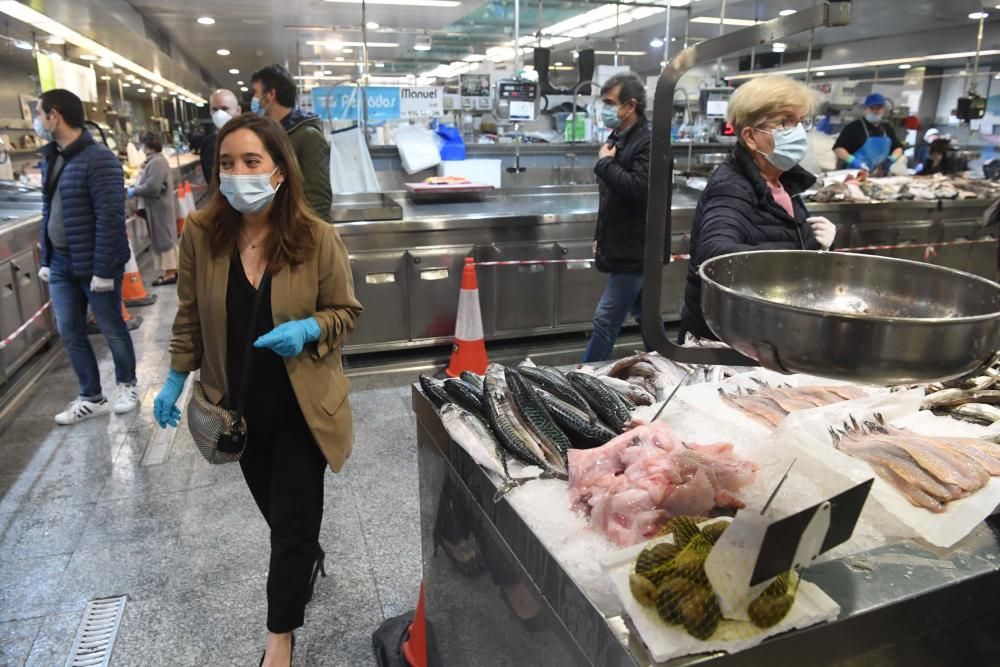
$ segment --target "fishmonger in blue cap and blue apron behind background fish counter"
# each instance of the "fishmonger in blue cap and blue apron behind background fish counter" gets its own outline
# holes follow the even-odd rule
[[[833,153],[848,169],[867,169],[883,176],[903,156],[903,144],[892,127],[882,122],[885,96],[872,93],[865,98],[864,118],[844,126],[833,145]]]

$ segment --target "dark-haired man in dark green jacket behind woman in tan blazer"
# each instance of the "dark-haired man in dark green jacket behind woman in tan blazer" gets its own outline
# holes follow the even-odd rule
[[[295,80],[281,65],[268,65],[250,77],[253,101],[250,111],[280,123],[299,160],[306,201],[323,220],[330,221],[333,188],[330,185],[330,144],[323,134],[323,121],[313,113],[295,108]]]

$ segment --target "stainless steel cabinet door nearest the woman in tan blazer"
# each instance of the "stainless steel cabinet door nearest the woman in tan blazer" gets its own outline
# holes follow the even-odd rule
[[[347,347],[408,340],[406,252],[352,254],[351,274],[354,293],[365,312]]]

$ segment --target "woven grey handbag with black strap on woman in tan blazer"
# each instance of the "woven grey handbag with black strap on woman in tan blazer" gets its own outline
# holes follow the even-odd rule
[[[194,444],[209,463],[231,463],[239,461],[247,446],[247,422],[243,417],[243,401],[247,382],[250,379],[250,365],[253,360],[253,331],[257,324],[261,294],[271,277],[267,274],[257,287],[250,315],[250,330],[247,332],[246,352],[243,357],[243,373],[240,376],[240,400],[236,410],[215,405],[205,396],[205,388],[195,381],[188,403],[188,429]]]

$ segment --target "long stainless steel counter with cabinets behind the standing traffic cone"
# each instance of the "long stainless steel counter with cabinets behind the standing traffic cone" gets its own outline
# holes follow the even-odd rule
[[[688,252],[700,193],[673,196],[672,252]],[[451,341],[465,257],[477,262],[585,260],[575,264],[488,266],[477,270],[487,340],[588,331],[606,277],[593,266],[596,187],[549,186],[481,201],[415,203],[390,196],[401,220],[338,224],[351,254],[355,289],[366,311],[346,352],[371,352]],[[996,230],[983,229],[988,202],[814,204],[838,226],[837,246],[900,246],[876,251],[931,261],[994,278]],[[928,251],[919,244],[991,242]],[[915,247],[907,247],[915,246]],[[664,270],[661,314],[679,317],[687,262]]]

